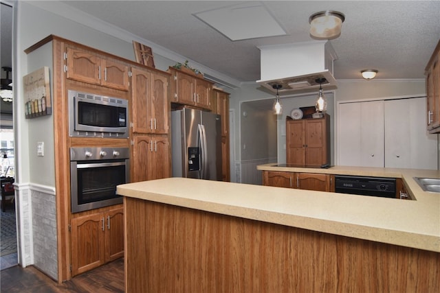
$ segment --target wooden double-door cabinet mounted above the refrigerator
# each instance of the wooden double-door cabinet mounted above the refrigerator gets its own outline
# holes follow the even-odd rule
[[[212,82],[170,67],[171,102],[212,110]]]

